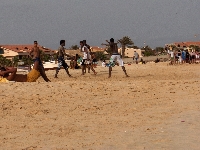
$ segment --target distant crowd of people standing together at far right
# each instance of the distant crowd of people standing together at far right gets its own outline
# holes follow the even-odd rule
[[[191,52],[183,49],[178,51],[168,50],[168,56],[170,59],[170,65],[183,63],[194,64],[199,60],[199,53],[194,50]]]

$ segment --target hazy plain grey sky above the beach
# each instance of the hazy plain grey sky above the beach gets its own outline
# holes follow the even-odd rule
[[[200,41],[200,0],[0,0],[0,44],[57,49],[129,36],[138,47]],[[196,36],[195,36],[196,35]]]

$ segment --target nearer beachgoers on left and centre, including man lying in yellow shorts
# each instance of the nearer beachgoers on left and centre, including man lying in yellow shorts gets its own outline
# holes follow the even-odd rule
[[[114,42],[114,39],[111,38],[110,41],[106,40],[106,45],[110,47],[111,50],[111,58],[109,61],[109,75],[108,77],[111,77],[111,72],[112,72],[112,67],[114,67],[114,64],[117,62],[119,66],[122,67],[122,70],[124,71],[126,77],[129,77],[126,69],[124,67],[124,62],[121,59],[120,54],[118,53],[118,43]],[[60,41],[60,47],[58,48],[58,67],[56,68],[56,73],[55,73],[55,78],[58,78],[58,73],[63,67],[69,77],[71,77],[71,74],[69,73],[69,66],[65,62],[65,40]],[[90,46],[86,43],[86,40],[80,41],[80,50],[83,53],[80,65],[81,65],[81,70],[82,74],[84,75],[86,73],[86,68],[88,68],[88,73],[90,73],[90,70],[94,73],[94,75],[97,74],[95,71],[95,66],[96,66],[96,58],[94,53],[91,52]],[[14,67],[0,67],[0,81],[7,80],[7,81],[16,81],[16,82],[35,82],[40,76],[46,81],[46,82],[51,82],[48,77],[46,76],[44,66],[42,64],[41,58],[40,58],[41,51],[39,50],[38,43],[37,41],[34,41],[34,47],[31,49],[29,52],[29,56],[33,60],[33,69],[27,74],[27,75],[22,75],[22,74],[17,74],[17,69]],[[75,68],[77,67],[77,61],[80,57],[76,55],[73,58],[73,64],[70,63],[70,67]]]

